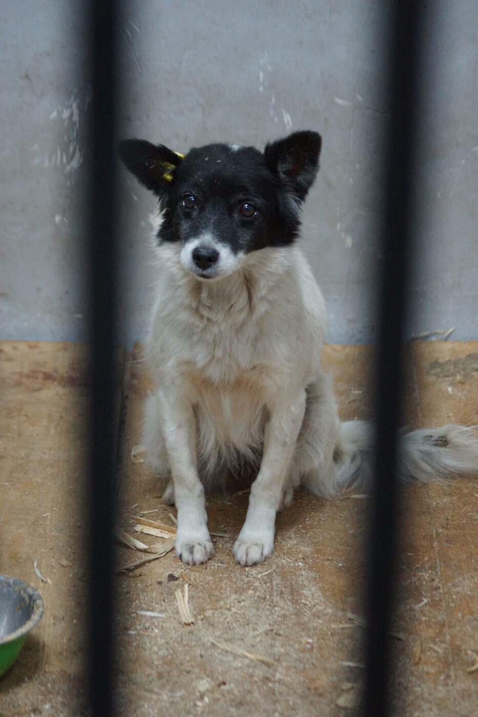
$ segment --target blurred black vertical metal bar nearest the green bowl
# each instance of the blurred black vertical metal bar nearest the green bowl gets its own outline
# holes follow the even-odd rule
[[[90,715],[113,714],[113,520],[116,442],[116,118],[118,12],[113,0],[92,0],[88,131],[90,260],[90,591],[88,690]]]

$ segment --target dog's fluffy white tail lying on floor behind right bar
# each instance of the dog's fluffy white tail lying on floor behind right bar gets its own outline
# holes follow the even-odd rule
[[[431,483],[478,475],[478,427],[448,424],[400,434],[398,476],[404,482]],[[373,470],[373,424],[341,424],[326,490],[334,495],[343,488],[370,488]],[[314,488],[312,488],[314,490]],[[314,490],[314,492],[316,492]]]

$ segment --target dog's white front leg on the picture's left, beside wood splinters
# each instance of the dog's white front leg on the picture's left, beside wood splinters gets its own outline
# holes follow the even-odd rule
[[[195,413],[184,398],[159,391],[158,399],[174,481],[176,554],[187,565],[200,565],[214,555],[214,546],[206,525],[204,488],[197,474]]]

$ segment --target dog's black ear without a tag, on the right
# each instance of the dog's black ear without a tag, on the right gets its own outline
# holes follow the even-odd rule
[[[299,201],[304,201],[319,170],[322,139],[317,132],[294,132],[264,150],[268,168]]]

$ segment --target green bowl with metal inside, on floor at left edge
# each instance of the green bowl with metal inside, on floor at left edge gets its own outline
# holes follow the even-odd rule
[[[17,660],[27,633],[42,619],[37,591],[18,578],[0,575],[0,677]]]

